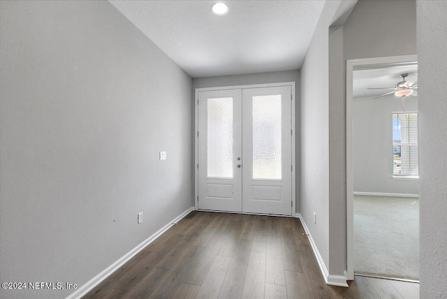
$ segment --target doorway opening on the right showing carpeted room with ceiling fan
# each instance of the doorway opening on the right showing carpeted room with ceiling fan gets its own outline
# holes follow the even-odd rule
[[[417,282],[417,57],[346,64],[348,278]]]

